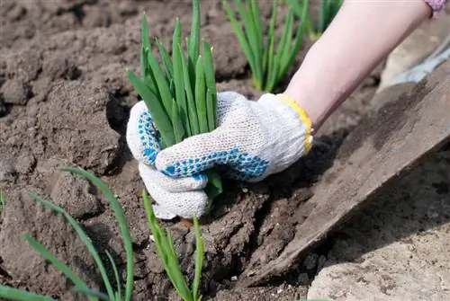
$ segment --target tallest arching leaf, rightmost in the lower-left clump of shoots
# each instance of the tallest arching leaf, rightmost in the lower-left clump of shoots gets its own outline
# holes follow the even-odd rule
[[[110,203],[112,210],[114,211],[114,216],[117,219],[117,223],[119,224],[119,229],[121,231],[121,237],[123,241],[123,247],[126,253],[126,261],[127,261],[127,282],[125,287],[125,300],[130,301],[132,297],[133,284],[134,284],[134,253],[132,240],[130,235],[130,230],[128,228],[127,219],[125,217],[125,213],[123,212],[123,208],[121,208],[121,204],[114,197],[112,191],[103,183],[102,180],[94,176],[92,173],[88,173],[81,168],[74,167],[66,167],[63,168],[64,171],[69,173],[77,173],[83,176],[88,181],[91,181],[98,190],[103,192],[103,195],[108,202]]]

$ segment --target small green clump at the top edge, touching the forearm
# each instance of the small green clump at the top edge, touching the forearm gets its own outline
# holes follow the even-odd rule
[[[303,0],[302,2],[298,0],[287,0],[287,2],[293,8],[293,12],[299,16],[303,15],[305,9],[309,11],[310,0]],[[304,19],[305,30],[308,32],[311,40],[317,40],[323,31],[327,30],[343,2],[344,0],[320,0],[317,29],[312,24],[311,15],[307,15],[307,18]]]

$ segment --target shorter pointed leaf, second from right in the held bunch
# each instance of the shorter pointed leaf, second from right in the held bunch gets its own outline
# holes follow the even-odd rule
[[[195,68],[195,106],[201,133],[208,132],[208,119],[206,117],[206,94],[204,84],[203,59],[199,56]]]

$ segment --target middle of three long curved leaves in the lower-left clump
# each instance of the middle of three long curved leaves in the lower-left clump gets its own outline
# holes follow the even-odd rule
[[[103,262],[100,259],[100,256],[98,255],[98,252],[95,250],[95,247],[93,245],[93,243],[91,243],[91,239],[85,234],[85,231],[83,231],[83,229],[81,228],[81,226],[78,225],[78,223],[76,222],[76,220],[74,219],[74,217],[71,217],[66,210],[64,210],[63,208],[58,207],[57,205],[49,202],[48,200],[45,199],[41,199],[40,196],[38,196],[35,193],[30,193],[31,198],[35,199],[38,203],[40,203],[40,205],[50,208],[52,211],[55,211],[59,214],[61,214],[63,217],[66,218],[67,222],[70,224],[70,226],[72,226],[76,233],[79,235],[80,239],[83,241],[83,243],[85,243],[85,246],[87,248],[87,250],[92,254],[92,256],[94,257],[94,261],[97,264],[97,268],[100,270],[100,274],[102,275],[102,279],[103,279],[103,284],[106,287],[106,291],[108,293],[108,296],[110,298],[114,297],[114,293],[112,290],[112,286],[111,283],[108,279],[108,275],[106,274],[106,269],[104,268]]]

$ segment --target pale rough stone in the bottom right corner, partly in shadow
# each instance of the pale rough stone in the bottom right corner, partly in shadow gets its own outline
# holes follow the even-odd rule
[[[436,187],[450,183],[449,155],[434,155],[342,231],[308,298],[450,300],[450,195]]]

